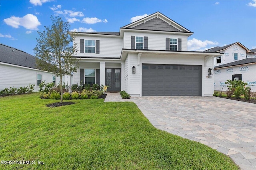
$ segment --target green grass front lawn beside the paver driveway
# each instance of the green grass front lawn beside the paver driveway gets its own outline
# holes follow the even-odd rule
[[[226,155],[154,128],[132,102],[56,100],[39,94],[0,98],[1,170],[238,170]],[[37,164],[43,161],[44,164]]]

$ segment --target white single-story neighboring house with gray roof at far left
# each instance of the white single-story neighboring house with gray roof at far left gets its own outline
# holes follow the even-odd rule
[[[67,76],[63,77],[63,82]],[[36,57],[0,44],[0,90],[10,87],[24,87],[35,84],[34,91],[39,90],[42,81],[59,84],[60,78],[54,73],[38,70],[36,68]],[[68,79],[69,80],[69,79]]]

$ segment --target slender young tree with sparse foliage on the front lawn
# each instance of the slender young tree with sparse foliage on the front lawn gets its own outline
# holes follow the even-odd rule
[[[75,34],[68,34],[70,24],[62,21],[61,17],[51,16],[52,25],[45,26],[45,31],[39,32],[36,38],[37,44],[34,48],[36,65],[38,69],[54,72],[60,77],[60,103],[63,100],[62,76],[76,72],[77,62],[73,56],[77,53],[77,44],[74,43]]]

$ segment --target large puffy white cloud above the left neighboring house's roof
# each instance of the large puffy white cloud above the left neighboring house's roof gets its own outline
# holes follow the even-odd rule
[[[38,26],[41,25],[41,23],[38,21],[37,17],[32,14],[27,14],[24,17],[16,17],[11,16],[10,18],[4,19],[4,22],[7,25],[10,25],[14,28],[18,28],[19,26],[23,26],[26,29],[31,30],[38,30]]]

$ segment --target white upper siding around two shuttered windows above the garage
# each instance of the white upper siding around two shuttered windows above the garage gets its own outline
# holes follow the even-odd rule
[[[163,33],[136,33],[124,32],[124,48],[131,49],[131,36],[148,37],[149,50],[165,50],[165,38],[181,38],[181,50],[187,51],[187,36],[186,35],[170,35]]]

